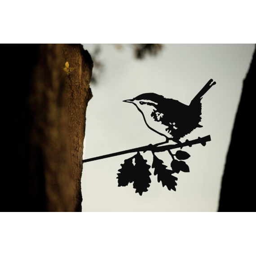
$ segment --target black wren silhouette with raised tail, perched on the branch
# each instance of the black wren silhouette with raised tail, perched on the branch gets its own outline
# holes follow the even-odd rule
[[[145,93],[132,100],[132,103],[141,112],[148,128],[164,136],[166,142],[172,140],[180,142],[182,137],[201,128],[202,97],[215,85],[211,79],[187,106],[177,100],[167,99],[155,93]],[[160,144],[159,144],[160,145]]]

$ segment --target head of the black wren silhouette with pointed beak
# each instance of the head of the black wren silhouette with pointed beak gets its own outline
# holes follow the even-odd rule
[[[144,114],[151,114],[153,110],[156,110],[159,103],[163,101],[164,97],[155,93],[145,93],[137,96],[132,100],[126,100],[124,102],[132,103],[137,106]]]

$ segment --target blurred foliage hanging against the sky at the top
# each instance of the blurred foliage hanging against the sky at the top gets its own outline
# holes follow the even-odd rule
[[[93,59],[93,77],[91,79],[92,84],[97,84],[99,77],[104,71],[104,64],[100,59],[102,44],[95,44],[93,52],[90,52]],[[136,59],[142,60],[146,56],[156,56],[162,49],[163,44],[112,44],[117,50],[122,50],[125,47],[129,47],[134,52]]]

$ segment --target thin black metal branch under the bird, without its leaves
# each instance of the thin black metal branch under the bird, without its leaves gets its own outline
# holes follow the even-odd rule
[[[134,152],[146,152],[146,151],[151,151],[152,153],[155,152],[164,152],[166,150],[172,150],[172,149],[178,149],[178,148],[183,148],[186,146],[192,147],[193,145],[196,144],[202,144],[203,146],[206,146],[206,142],[211,141],[211,136],[208,135],[206,137],[203,138],[198,138],[196,140],[193,141],[185,141],[184,143],[178,143],[175,145],[167,145],[167,146],[161,146],[161,147],[157,147],[157,146],[143,146],[143,147],[139,147],[139,148],[135,148],[135,149],[131,149],[131,150],[125,150],[125,151],[121,151],[121,152],[117,152],[117,153],[113,153],[113,154],[106,154],[106,155],[102,155],[102,156],[98,156],[95,158],[91,158],[91,159],[85,159],[83,160],[83,163],[88,163],[88,162],[93,162],[93,161],[97,161],[97,160],[101,160],[101,159],[106,159],[106,158],[110,158],[110,157],[114,157],[114,156],[118,156],[118,155],[122,155],[122,154],[129,154],[129,153],[134,153]]]

